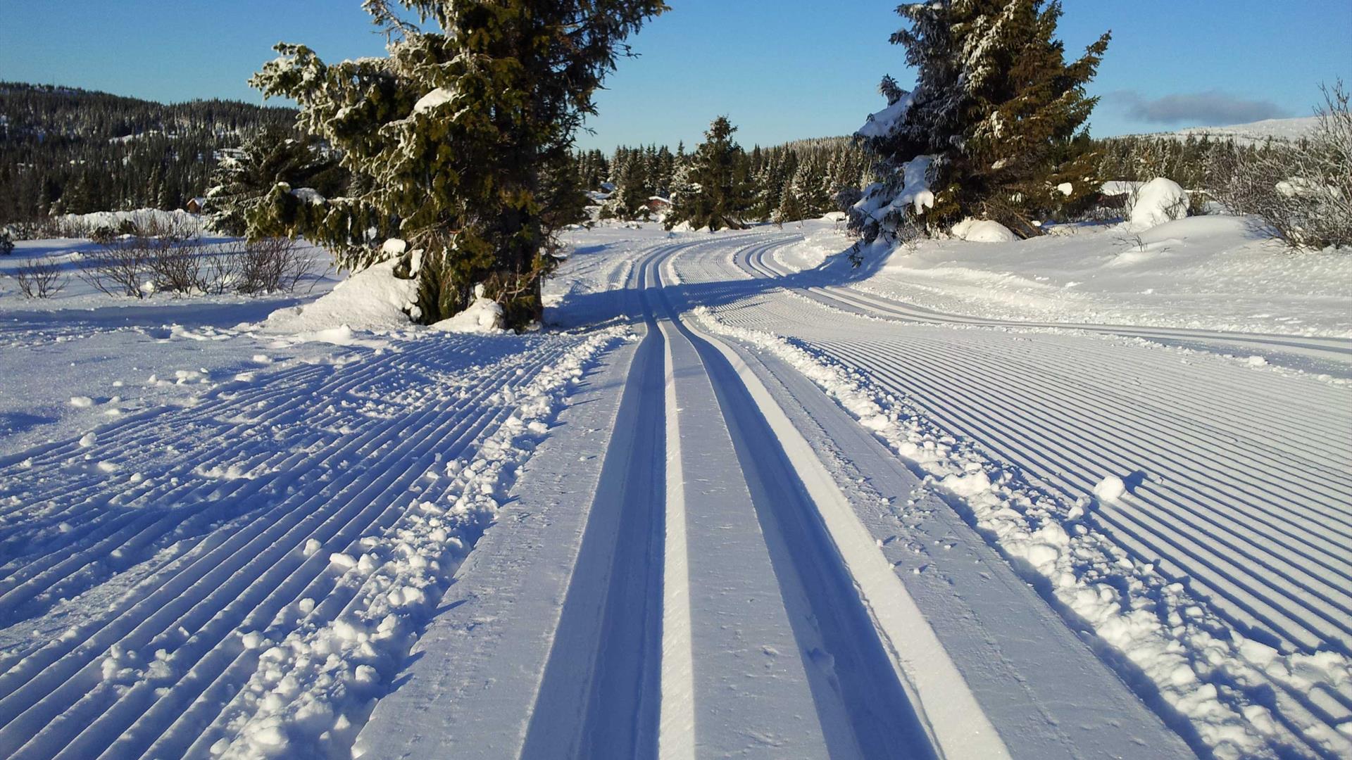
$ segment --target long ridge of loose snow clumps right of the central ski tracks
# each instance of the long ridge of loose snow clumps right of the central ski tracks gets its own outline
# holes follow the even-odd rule
[[[1302,742],[1279,722],[1267,700],[1287,690],[1352,683],[1352,659],[1337,652],[1283,653],[1251,640],[1199,604],[1187,587],[1080,523],[1087,500],[1040,491],[948,435],[923,410],[869,388],[859,373],[799,341],[748,330],[706,307],[695,316],[711,331],[757,346],[786,361],[836,399],[879,440],[944,490],[975,518],[977,529],[1029,580],[1045,586],[1096,637],[1110,664],[1153,684],[1214,757],[1275,757]],[[1115,483],[1114,483],[1115,481]],[[1126,491],[1119,477],[1095,488]],[[1101,496],[1102,498],[1102,496]],[[1299,710],[1283,710],[1301,721]],[[1321,737],[1330,756],[1349,746],[1322,723],[1299,723]]]

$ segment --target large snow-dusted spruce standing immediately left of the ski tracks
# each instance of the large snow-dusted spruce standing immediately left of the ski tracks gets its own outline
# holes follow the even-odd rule
[[[661,0],[364,0],[388,55],[329,65],[303,45],[251,84],[300,105],[297,126],[342,157],[342,197],[268,197],[269,229],[304,234],[350,269],[407,241],[396,273],[418,280],[414,318],[464,310],[475,287],[508,326],[541,315],[553,230],[541,172],[568,154],[623,41]],[[414,15],[425,30],[407,18]],[[429,24],[429,22],[431,22]],[[437,30],[437,31],[431,31]]]

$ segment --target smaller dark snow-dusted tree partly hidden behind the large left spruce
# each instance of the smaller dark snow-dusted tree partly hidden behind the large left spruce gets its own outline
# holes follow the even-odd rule
[[[256,230],[268,224],[264,200],[279,184],[330,196],[339,195],[347,180],[347,170],[331,151],[308,138],[296,139],[281,127],[269,127],[245,142],[237,156],[222,158],[211,173],[208,223],[219,233],[245,235],[250,216]]]

